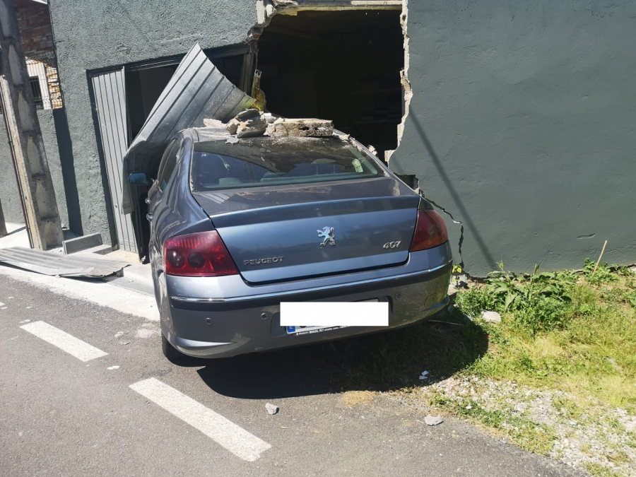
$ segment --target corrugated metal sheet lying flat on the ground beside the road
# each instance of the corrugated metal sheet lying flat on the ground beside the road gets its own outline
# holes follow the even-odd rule
[[[126,261],[64,255],[24,247],[0,249],[0,262],[43,275],[102,278],[129,266]]]

